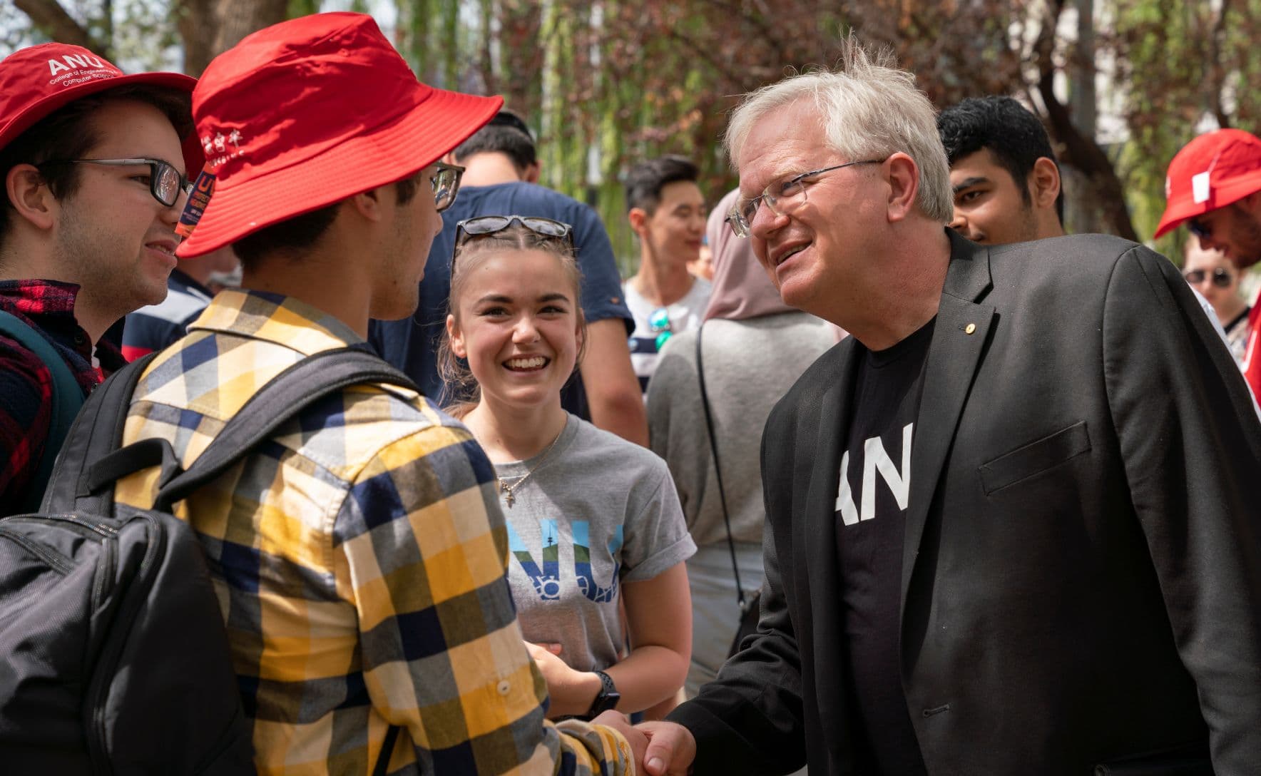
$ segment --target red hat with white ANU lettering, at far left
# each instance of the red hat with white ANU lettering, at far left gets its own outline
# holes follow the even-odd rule
[[[18,49],[0,61],[0,149],[40,119],[81,97],[120,86],[159,86],[192,93],[197,78],[183,73],[126,76],[105,57],[82,45],[42,43]],[[202,168],[202,151],[184,145],[188,174]]]

